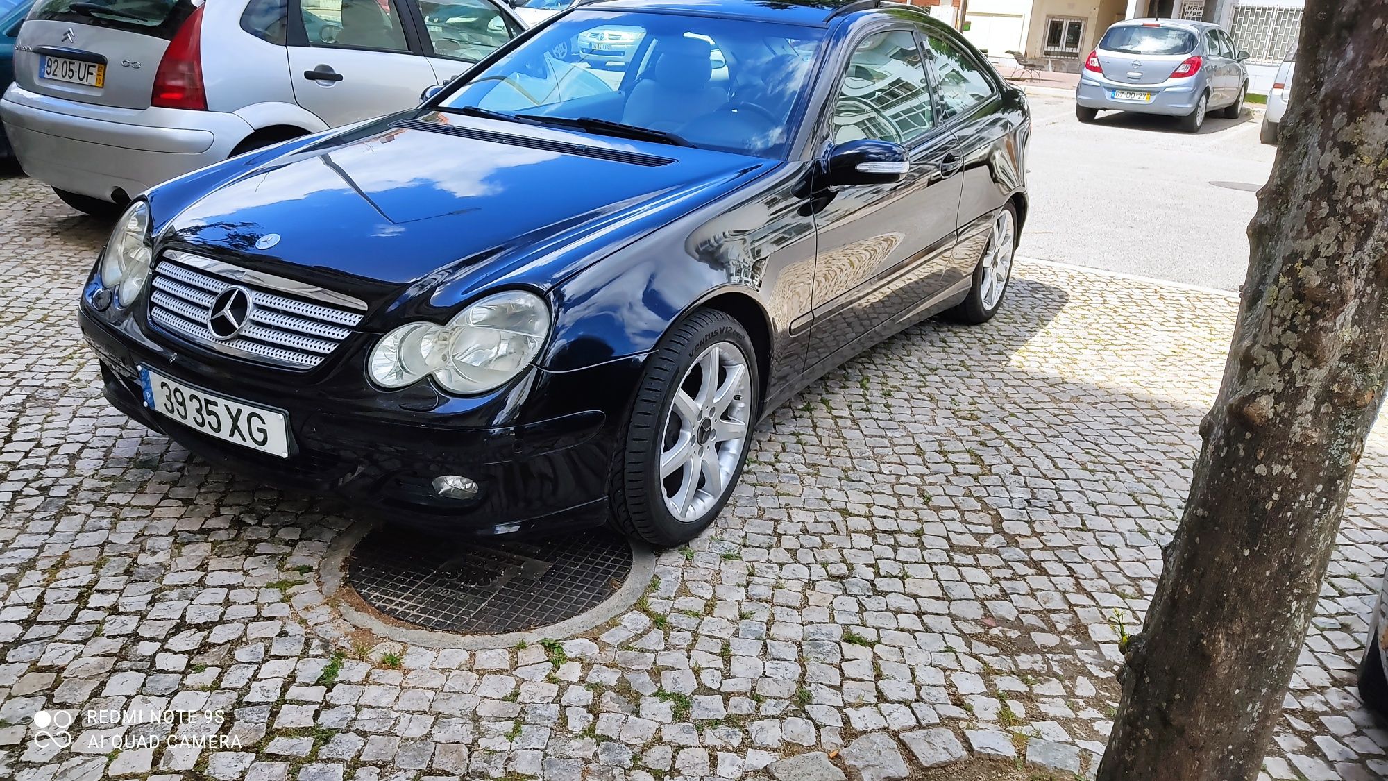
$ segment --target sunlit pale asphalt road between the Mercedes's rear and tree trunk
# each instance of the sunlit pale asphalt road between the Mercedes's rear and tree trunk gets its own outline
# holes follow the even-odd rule
[[[1173,120],[1101,113],[1033,93],[1027,176],[1031,214],[1019,254],[1235,290],[1248,270],[1248,222],[1276,150],[1258,140],[1262,113],[1209,118],[1199,133]]]

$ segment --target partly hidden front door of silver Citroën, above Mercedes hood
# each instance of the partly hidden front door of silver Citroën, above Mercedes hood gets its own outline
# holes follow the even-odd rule
[[[425,54],[437,83],[466,71],[525,31],[509,8],[493,0],[403,1],[419,14]]]

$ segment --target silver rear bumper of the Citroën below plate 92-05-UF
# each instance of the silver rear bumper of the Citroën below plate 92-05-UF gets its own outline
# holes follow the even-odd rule
[[[25,174],[101,200],[221,163],[251,133],[236,114],[92,106],[18,83],[0,99],[0,118]]]

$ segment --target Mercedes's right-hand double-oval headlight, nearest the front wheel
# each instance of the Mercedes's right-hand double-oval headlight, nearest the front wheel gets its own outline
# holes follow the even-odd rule
[[[484,393],[520,374],[550,335],[550,307],[534,293],[487,296],[448,321],[408,322],[371,353],[376,385],[404,388],[433,375],[459,395]]]

